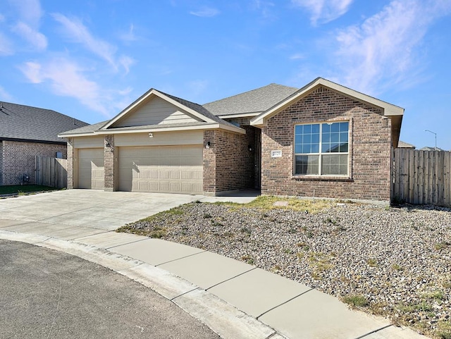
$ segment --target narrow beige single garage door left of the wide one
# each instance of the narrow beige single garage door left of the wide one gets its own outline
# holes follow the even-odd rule
[[[78,188],[103,190],[103,148],[78,149]]]

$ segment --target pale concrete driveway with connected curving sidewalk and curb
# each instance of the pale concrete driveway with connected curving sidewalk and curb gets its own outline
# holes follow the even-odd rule
[[[68,190],[0,200],[0,238],[58,249],[109,267],[172,300],[225,339],[425,338],[255,266],[113,231],[178,204],[215,199],[167,196]],[[150,205],[155,207],[152,213]]]

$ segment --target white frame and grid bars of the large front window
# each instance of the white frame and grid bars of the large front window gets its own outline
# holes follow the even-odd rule
[[[347,152],[321,152],[323,147],[323,125],[332,125],[333,123],[348,123],[347,125]],[[296,153],[296,127],[299,125],[319,125],[319,152],[311,153]],[[311,122],[311,123],[296,123],[293,125],[293,168],[292,173],[294,178],[350,178],[350,159],[351,159],[351,121],[350,120],[340,120],[340,121],[323,121],[323,122]],[[347,173],[346,174],[322,174],[323,156],[330,154],[336,155],[346,155],[347,156]],[[296,173],[296,156],[318,156],[318,173],[316,174],[303,174]]]

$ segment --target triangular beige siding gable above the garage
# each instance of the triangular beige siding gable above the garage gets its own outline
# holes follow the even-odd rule
[[[193,123],[196,121],[200,120],[185,111],[180,111],[177,106],[169,104],[159,97],[153,97],[136,111],[132,111],[116,121],[112,127]]]

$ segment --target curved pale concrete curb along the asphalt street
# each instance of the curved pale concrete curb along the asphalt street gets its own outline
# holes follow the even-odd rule
[[[80,257],[151,288],[223,339],[288,339],[216,295],[175,274],[137,259],[80,242],[0,230],[0,239],[25,242]]]

